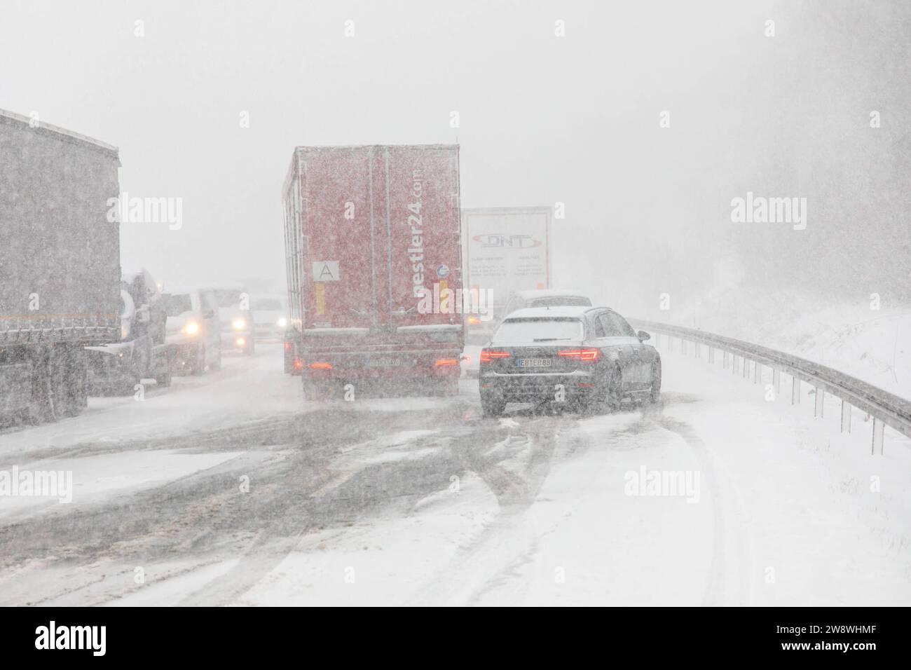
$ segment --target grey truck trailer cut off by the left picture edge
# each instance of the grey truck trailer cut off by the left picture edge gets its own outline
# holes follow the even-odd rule
[[[118,149],[30,120],[0,110],[3,422],[77,414],[84,347],[120,339]]]

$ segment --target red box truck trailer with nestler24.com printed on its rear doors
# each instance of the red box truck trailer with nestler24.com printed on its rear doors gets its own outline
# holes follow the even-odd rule
[[[286,349],[305,397],[378,382],[455,393],[465,343],[458,147],[298,147],[282,198]]]

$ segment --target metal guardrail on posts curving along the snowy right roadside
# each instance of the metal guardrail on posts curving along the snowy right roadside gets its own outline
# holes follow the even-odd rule
[[[845,375],[832,367],[822,366],[813,361],[808,361],[800,356],[792,356],[766,346],[754,345],[750,342],[736,340],[724,335],[714,335],[695,328],[685,328],[680,325],[661,324],[655,321],[642,321],[630,319],[630,323],[637,329],[656,334],[656,346],[659,343],[657,335],[666,335],[668,346],[672,338],[681,341],[681,353],[687,353],[687,343],[693,344],[694,356],[701,357],[701,345],[708,347],[709,362],[714,362],[714,352],[722,352],[722,367],[726,368],[730,362],[732,373],[738,372],[738,358],[742,361],[742,376],[750,376],[750,363],[752,362],[753,381],[759,384],[762,381],[762,366],[772,369],[772,384],[775,397],[779,395],[781,373],[792,377],[791,403],[800,402],[801,382],[810,384],[816,389],[814,416],[823,417],[824,397],[828,393],[841,398],[841,428],[842,432],[851,432],[851,408],[866,412],[873,417],[873,438],[871,453],[876,448],[883,453],[883,428],[888,426],[911,438],[911,400],[896,396],[893,393],[868,384],[854,376]]]

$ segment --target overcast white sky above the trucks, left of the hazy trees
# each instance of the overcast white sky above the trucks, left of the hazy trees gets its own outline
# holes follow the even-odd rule
[[[565,202],[558,283],[597,274],[613,303],[656,246],[711,246],[742,194],[711,180],[769,149],[754,103],[793,72],[775,52],[796,26],[742,5],[5,0],[0,108],[117,145],[121,191],[183,198],[180,231],[122,226],[122,263],[166,283],[282,287],[295,145],[457,139],[463,206]]]

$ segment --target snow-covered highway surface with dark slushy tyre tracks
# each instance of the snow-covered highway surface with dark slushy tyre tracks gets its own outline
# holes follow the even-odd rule
[[[661,353],[607,416],[486,419],[466,377],[305,404],[263,345],[6,430],[72,501],[0,497],[0,604],[911,603],[908,441]]]

